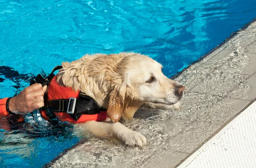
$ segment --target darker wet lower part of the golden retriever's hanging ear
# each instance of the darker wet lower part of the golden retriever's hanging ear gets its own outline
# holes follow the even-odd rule
[[[124,111],[124,96],[114,89],[111,91],[108,100],[107,114],[111,121],[118,122]]]

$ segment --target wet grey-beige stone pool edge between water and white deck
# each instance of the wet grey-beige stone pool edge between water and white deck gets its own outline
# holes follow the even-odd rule
[[[97,165],[87,165],[86,160],[73,156],[76,154],[86,158],[87,152],[93,152],[93,150],[84,151],[88,144],[84,145],[87,140],[82,140],[62,152],[45,167],[177,167],[180,165],[256,100],[256,18],[239,31],[232,33],[224,42],[172,79],[185,85],[186,92],[180,111],[174,111],[172,108],[154,111],[156,114],[158,111],[161,113],[168,111],[172,117],[168,120],[168,124],[172,125],[173,129],[162,130],[162,134],[165,135],[163,137],[167,134],[172,136],[167,136],[165,143],[155,145],[159,150],[150,153],[148,147],[123,149],[134,153],[140,150],[136,156],[134,155],[135,159],[130,158],[135,163],[119,158],[122,163],[119,165],[111,156],[111,161],[105,165],[101,162]],[[148,108],[142,108],[141,111],[143,110],[149,111]],[[150,136],[146,131],[143,134],[146,137]],[[105,141],[97,143],[106,145]],[[107,146],[112,148],[111,145]],[[102,152],[100,151],[99,154]],[[139,154],[143,158],[139,157]]]

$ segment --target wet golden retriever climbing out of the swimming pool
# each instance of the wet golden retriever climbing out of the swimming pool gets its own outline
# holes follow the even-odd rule
[[[62,66],[57,74],[59,85],[82,91],[108,109],[109,120],[87,121],[75,127],[125,145],[143,147],[147,141],[139,132],[119,123],[121,116],[131,120],[143,103],[178,103],[185,89],[163,74],[160,63],[142,54],[86,54]]]

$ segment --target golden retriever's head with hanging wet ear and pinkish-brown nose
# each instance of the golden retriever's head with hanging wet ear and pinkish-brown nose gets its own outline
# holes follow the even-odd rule
[[[172,105],[180,101],[185,87],[166,77],[162,68],[157,61],[140,54],[128,55],[117,64],[108,102],[112,121],[120,119],[128,102]]]

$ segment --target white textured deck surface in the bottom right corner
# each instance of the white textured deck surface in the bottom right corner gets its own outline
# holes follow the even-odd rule
[[[255,168],[256,102],[178,168]]]

